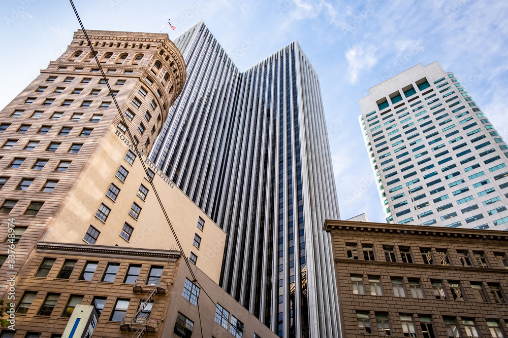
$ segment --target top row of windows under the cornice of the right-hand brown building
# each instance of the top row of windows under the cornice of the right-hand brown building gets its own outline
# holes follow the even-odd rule
[[[495,264],[489,262],[485,252],[480,250],[457,249],[451,257],[448,249],[444,248],[419,247],[415,251],[410,246],[383,245],[383,253],[385,260],[389,262],[508,269],[508,260],[504,252],[493,252]],[[376,260],[372,244],[361,244],[359,247],[357,243],[346,243],[346,255],[348,259]],[[413,259],[414,255],[419,256],[418,261]]]

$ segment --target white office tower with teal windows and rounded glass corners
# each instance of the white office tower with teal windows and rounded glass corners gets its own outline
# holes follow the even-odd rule
[[[508,229],[508,145],[453,73],[418,64],[360,107],[387,222]]]

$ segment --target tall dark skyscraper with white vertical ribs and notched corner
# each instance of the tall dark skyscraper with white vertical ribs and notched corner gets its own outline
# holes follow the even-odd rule
[[[320,84],[293,42],[239,72],[203,22],[175,39],[187,82],[151,152],[227,233],[220,285],[279,336],[338,336],[338,218]]]

